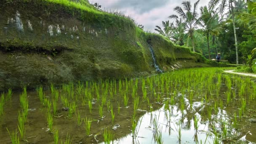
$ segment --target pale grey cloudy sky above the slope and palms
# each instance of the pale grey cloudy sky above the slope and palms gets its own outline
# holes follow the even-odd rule
[[[173,11],[182,0],[89,0],[90,3],[99,3],[102,9],[118,9],[127,16],[132,16],[138,24],[144,25],[145,30],[154,32],[155,26],[162,26],[162,21],[168,16],[176,14]],[[191,0],[194,3],[197,0]],[[207,5],[210,0],[200,0],[199,6]]]

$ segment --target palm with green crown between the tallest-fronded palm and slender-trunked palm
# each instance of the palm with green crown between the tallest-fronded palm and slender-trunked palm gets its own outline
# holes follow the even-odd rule
[[[207,6],[200,7],[201,17],[200,17],[200,24],[203,27],[204,33],[207,38],[207,45],[208,45],[208,52],[209,52],[209,59],[211,59],[211,51],[209,45],[209,36],[217,35],[220,31],[218,27],[219,23],[219,16],[213,10],[209,10]]]

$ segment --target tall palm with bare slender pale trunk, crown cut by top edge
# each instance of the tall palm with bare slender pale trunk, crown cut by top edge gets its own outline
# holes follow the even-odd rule
[[[237,43],[237,32],[236,32],[236,27],[235,27],[235,11],[233,7],[233,3],[235,0],[211,0],[209,3],[209,8],[213,9],[216,5],[219,4],[219,7],[217,10],[221,15],[223,15],[225,9],[228,7],[229,12],[231,13],[232,16],[232,21],[233,21],[233,28],[234,28],[234,36],[235,36],[235,51],[236,51],[236,59],[237,59],[237,64],[239,63],[238,61],[238,43]]]

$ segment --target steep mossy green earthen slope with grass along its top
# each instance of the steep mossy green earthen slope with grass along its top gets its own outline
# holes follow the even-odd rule
[[[188,48],[143,32],[130,19],[80,1],[0,2],[0,91],[21,85],[33,88],[38,84],[149,75],[154,67],[147,42],[154,48],[157,63],[167,71],[176,61],[182,61],[184,67],[205,62]],[[17,29],[17,21],[11,22],[11,18],[16,20],[17,11],[23,31]]]

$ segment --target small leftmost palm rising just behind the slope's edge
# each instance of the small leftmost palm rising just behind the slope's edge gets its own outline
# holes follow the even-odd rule
[[[155,31],[157,31],[160,35],[163,35],[163,36],[171,39],[173,23],[170,24],[170,21],[162,21],[162,25],[163,25],[163,29],[159,26],[155,26],[155,27],[157,27],[157,29],[155,29]]]

